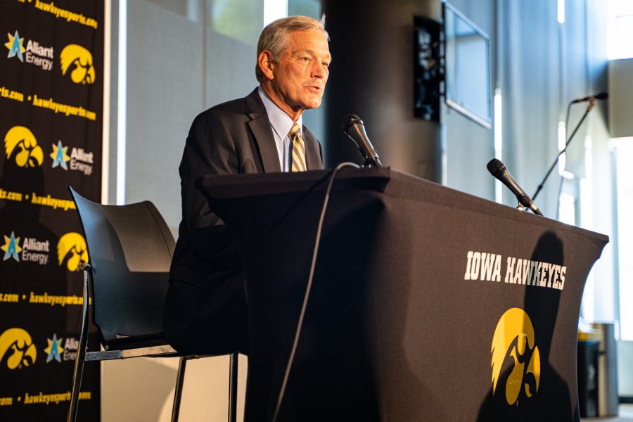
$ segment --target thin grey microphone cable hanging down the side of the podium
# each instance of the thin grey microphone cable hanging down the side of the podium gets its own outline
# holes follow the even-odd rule
[[[359,165],[354,162],[341,162],[335,167],[326,189],[326,195],[323,201],[323,207],[321,207],[321,216],[319,217],[319,224],[316,226],[316,239],[314,241],[314,250],[312,251],[312,264],[310,264],[310,272],[308,276],[307,286],[305,287],[305,295],[303,297],[303,305],[301,306],[301,312],[297,322],[297,329],[295,330],[295,340],[293,341],[293,347],[290,350],[290,356],[288,357],[288,363],[286,364],[286,373],[283,374],[283,381],[281,382],[281,388],[279,390],[279,396],[277,397],[277,404],[275,406],[275,413],[272,418],[272,422],[277,421],[279,416],[279,410],[281,409],[281,402],[283,401],[283,395],[286,393],[286,385],[288,384],[288,377],[290,376],[290,369],[293,366],[295,360],[295,352],[297,352],[297,345],[299,344],[299,336],[301,335],[301,328],[303,326],[303,317],[305,316],[305,309],[307,308],[308,298],[310,296],[310,290],[312,290],[312,279],[314,278],[314,267],[316,267],[316,255],[319,252],[319,243],[321,242],[321,229],[323,229],[323,221],[325,219],[325,213],[328,208],[328,202],[330,200],[330,191],[332,190],[332,184],[338,170],[344,167],[356,167]]]

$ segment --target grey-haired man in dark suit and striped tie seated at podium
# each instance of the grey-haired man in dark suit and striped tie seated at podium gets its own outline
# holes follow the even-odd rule
[[[182,222],[165,301],[165,337],[179,352],[248,350],[238,250],[194,181],[205,174],[322,168],[321,145],[302,127],[301,115],[320,106],[330,61],[324,18],[276,20],[257,43],[260,86],[193,120],[179,167]]]

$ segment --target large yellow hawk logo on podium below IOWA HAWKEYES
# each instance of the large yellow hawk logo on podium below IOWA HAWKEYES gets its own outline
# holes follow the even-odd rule
[[[539,390],[541,358],[535,344],[534,327],[523,309],[508,309],[499,319],[492,338],[492,395],[497,392],[501,366],[513,361],[506,381],[506,401],[518,404],[521,389],[528,399]]]

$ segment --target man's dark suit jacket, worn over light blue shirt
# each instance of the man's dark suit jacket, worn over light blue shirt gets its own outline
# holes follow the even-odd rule
[[[303,128],[308,170],[323,167],[321,145]],[[247,351],[244,276],[233,236],[196,190],[205,174],[281,172],[266,108],[257,93],[193,120],[179,167],[182,222],[165,301],[165,337],[179,352]]]

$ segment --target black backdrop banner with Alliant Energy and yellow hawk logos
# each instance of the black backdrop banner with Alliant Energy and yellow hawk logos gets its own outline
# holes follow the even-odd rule
[[[0,8],[0,420],[60,421],[88,260],[68,186],[101,202],[105,7]],[[79,399],[80,419],[98,421],[98,365],[84,370]]]

